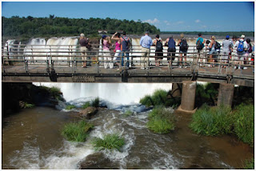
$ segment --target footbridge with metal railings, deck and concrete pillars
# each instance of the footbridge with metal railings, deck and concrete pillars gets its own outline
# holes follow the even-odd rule
[[[139,46],[133,46],[129,52],[129,60],[123,58],[125,62],[132,63],[130,68],[122,67],[121,70],[105,69],[104,62],[121,62],[118,60],[104,60],[102,48],[100,45],[94,45],[93,50],[88,52],[90,59],[86,60],[87,67],[82,68],[82,54],[79,46],[24,46],[12,45],[12,48],[2,47],[2,82],[162,82],[162,83],[183,83],[183,89],[187,89],[187,93],[195,92],[193,82],[214,82],[223,85],[222,89],[226,89],[233,94],[234,85],[243,85],[254,87],[254,62],[249,59],[254,58],[254,54],[250,54],[249,58],[242,60],[241,67],[246,70],[238,70],[234,67],[238,66],[240,60],[234,60],[236,53],[231,58],[222,60],[222,54],[215,55],[215,61],[209,59],[209,54],[204,50],[201,54],[196,52],[195,46],[190,46],[190,50],[186,54],[186,62],[181,61],[180,54],[174,53],[174,61],[170,58],[167,60],[166,49],[163,50],[163,59],[160,67],[155,67],[154,47],[150,52],[150,60],[146,70],[141,69],[142,52]],[[166,48],[166,47],[165,47]],[[176,50],[178,52],[178,50]],[[110,54],[113,57],[114,54]],[[237,56],[238,57],[238,56]],[[238,57],[239,58],[239,57]],[[182,64],[183,68],[178,67]],[[214,67],[210,67],[214,66]],[[185,82],[189,82],[190,86],[185,88]],[[233,88],[232,88],[233,87]],[[193,88],[192,88],[193,89]],[[233,89],[233,90],[232,90]],[[225,90],[225,91],[226,91]],[[183,94],[183,93],[182,93]],[[183,95],[182,95],[183,96]],[[194,98],[192,95],[183,98]],[[220,96],[220,94],[219,94]],[[220,97],[221,98],[221,97]],[[231,97],[231,103],[232,103]],[[184,100],[182,100],[184,101]],[[222,102],[230,104],[230,100],[226,97]],[[185,105],[185,102],[183,102]],[[192,102],[193,103],[193,102]],[[186,101],[186,105],[190,101]],[[187,110],[194,109],[192,107]]]

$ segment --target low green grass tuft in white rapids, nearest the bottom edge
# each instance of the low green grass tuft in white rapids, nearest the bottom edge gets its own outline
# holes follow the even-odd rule
[[[103,139],[98,137],[94,138],[93,145],[96,150],[118,149],[118,151],[120,151],[122,146],[125,145],[125,140],[116,133],[107,134]]]

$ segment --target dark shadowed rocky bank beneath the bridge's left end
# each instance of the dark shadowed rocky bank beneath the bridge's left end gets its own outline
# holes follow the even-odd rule
[[[58,100],[64,101],[62,93],[50,92],[46,87],[32,83],[2,82],[2,117],[18,112],[24,106],[24,101],[38,106],[55,107]]]

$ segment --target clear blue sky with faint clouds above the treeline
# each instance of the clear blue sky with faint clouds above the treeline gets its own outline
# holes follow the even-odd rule
[[[116,18],[161,31],[254,31],[254,2],[4,2],[2,16]]]

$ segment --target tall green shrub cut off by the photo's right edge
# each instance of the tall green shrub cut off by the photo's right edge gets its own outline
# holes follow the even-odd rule
[[[254,105],[238,105],[234,110],[234,133],[238,138],[254,145]]]

